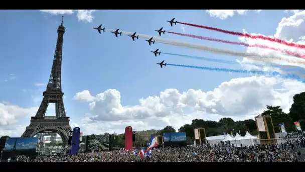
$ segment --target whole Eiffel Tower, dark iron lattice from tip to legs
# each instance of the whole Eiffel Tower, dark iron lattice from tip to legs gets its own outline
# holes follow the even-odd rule
[[[61,90],[62,48],[63,36],[65,33],[63,20],[57,29],[57,33],[58,37],[55,55],[47,89],[43,92],[43,100],[35,117],[31,117],[31,123],[28,127],[26,127],[26,131],[21,137],[34,137],[38,133],[54,132],[61,136],[63,145],[67,145],[69,133],[71,132],[71,126],[69,124],[70,118],[66,116],[63,102],[64,93]],[[45,116],[50,103],[55,104],[56,116],[54,117]]]

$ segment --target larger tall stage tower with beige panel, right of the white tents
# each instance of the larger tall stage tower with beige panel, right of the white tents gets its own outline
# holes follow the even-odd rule
[[[275,132],[270,116],[257,116],[255,117],[258,138],[260,144],[275,144]]]

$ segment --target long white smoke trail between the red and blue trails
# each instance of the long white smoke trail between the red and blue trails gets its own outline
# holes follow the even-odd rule
[[[113,29],[105,29],[105,30],[115,31]],[[122,34],[124,34],[124,35],[133,34],[132,32],[125,32],[125,31],[119,31],[119,32],[122,32]],[[259,55],[259,54],[255,54],[255,53],[236,52],[236,51],[208,47],[208,46],[200,45],[200,44],[192,44],[192,43],[183,42],[183,41],[176,41],[176,40],[172,40],[172,39],[161,38],[161,37],[157,37],[157,36],[136,34],[136,36],[137,35],[140,38],[144,38],[144,39],[150,39],[151,37],[153,37],[153,41],[156,40],[156,42],[163,43],[163,44],[176,45],[176,46],[180,46],[180,47],[193,48],[193,49],[203,50],[203,51],[210,51],[210,52],[218,53],[218,54],[247,57],[247,58],[260,60],[263,62],[274,62],[274,59],[277,59],[277,60],[281,60],[281,61],[287,61],[290,63],[305,64],[305,59],[300,59],[300,58],[296,58],[296,57],[295,58],[284,58],[284,57],[280,57],[280,56],[269,56],[269,55]]]

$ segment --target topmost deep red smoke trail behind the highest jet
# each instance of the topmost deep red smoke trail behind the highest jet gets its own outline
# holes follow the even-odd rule
[[[287,42],[278,38],[270,38],[270,37],[266,37],[266,36],[262,36],[262,35],[251,35],[248,33],[241,33],[241,32],[234,32],[234,31],[228,31],[228,30],[223,30],[223,29],[218,29],[218,28],[213,28],[213,27],[208,27],[208,26],[203,26],[203,25],[195,25],[195,24],[190,24],[190,23],[183,23],[183,22],[177,22],[183,25],[188,25],[188,26],[193,26],[193,27],[197,27],[197,28],[203,28],[203,29],[208,29],[208,30],[213,30],[213,31],[217,31],[217,32],[222,32],[225,34],[231,34],[231,35],[238,35],[238,36],[244,36],[247,38],[251,38],[251,39],[262,39],[262,40],[268,40],[271,42],[277,42],[280,44],[284,44],[290,47],[296,47],[296,48],[305,48],[305,45],[301,45],[301,44],[296,44],[296,43],[292,43],[292,42]]]

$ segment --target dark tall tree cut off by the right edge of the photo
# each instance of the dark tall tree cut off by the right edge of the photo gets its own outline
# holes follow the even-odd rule
[[[305,92],[293,96],[293,103],[289,111],[292,122],[305,120]]]

